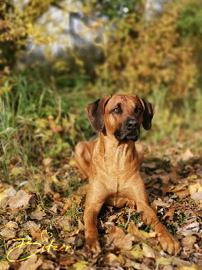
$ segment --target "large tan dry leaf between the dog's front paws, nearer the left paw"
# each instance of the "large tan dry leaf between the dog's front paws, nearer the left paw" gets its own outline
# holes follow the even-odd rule
[[[118,248],[122,248],[123,250],[131,249],[132,241],[134,240],[134,236],[124,234],[124,231],[117,226],[113,227],[110,231],[110,238]]]

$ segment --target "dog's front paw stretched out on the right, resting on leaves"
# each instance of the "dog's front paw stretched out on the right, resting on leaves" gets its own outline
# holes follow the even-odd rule
[[[167,231],[161,233],[159,241],[163,250],[168,252],[170,255],[177,255],[180,250],[180,243],[178,240],[171,236]]]

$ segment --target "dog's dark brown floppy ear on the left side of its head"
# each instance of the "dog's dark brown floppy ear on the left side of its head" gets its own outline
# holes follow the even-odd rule
[[[87,118],[96,132],[101,132],[104,128],[104,111],[111,97],[112,95],[105,95],[101,99],[87,105],[85,108]]]

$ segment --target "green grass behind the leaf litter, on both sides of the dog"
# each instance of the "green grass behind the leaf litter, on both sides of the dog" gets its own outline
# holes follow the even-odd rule
[[[80,140],[94,135],[85,107],[99,93],[90,93],[85,81],[74,86],[61,84],[59,77],[37,71],[11,74],[0,97],[0,165],[7,171],[12,156],[19,156],[24,167],[41,163],[44,157],[68,158]],[[151,130],[140,131],[146,142],[201,144],[202,92],[169,101],[168,91],[154,90],[146,99],[156,109]],[[140,95],[140,93],[139,93]],[[50,121],[61,131],[55,132]],[[188,140],[187,140],[188,139]]]

